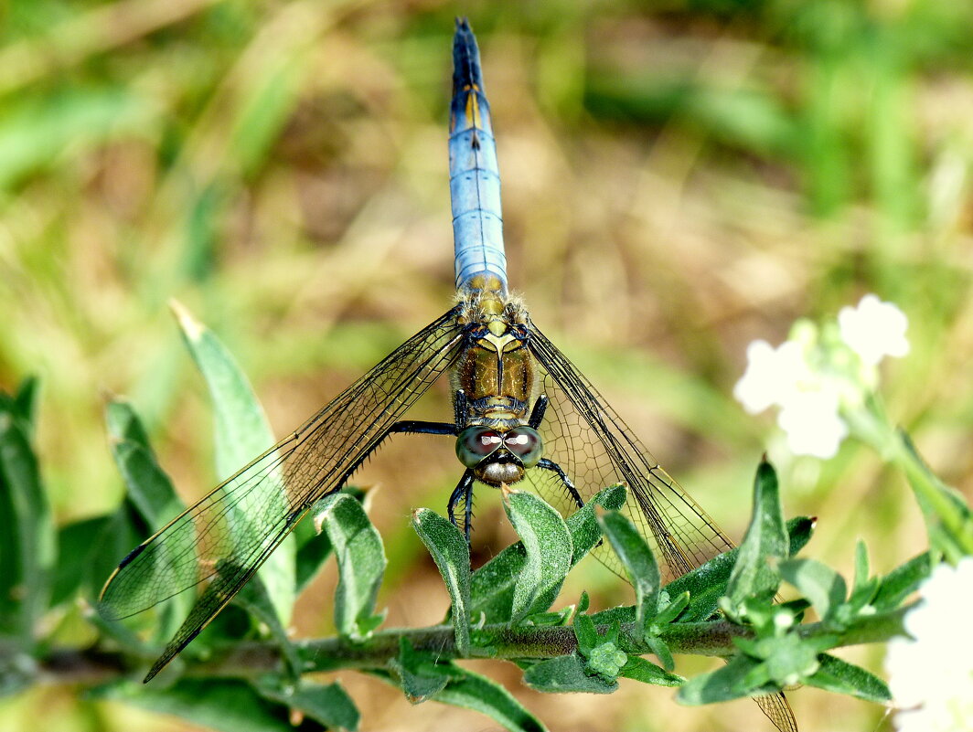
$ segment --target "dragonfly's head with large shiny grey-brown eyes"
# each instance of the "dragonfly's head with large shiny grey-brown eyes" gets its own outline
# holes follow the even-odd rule
[[[487,485],[516,483],[523,472],[540,462],[544,443],[530,427],[500,432],[489,427],[467,427],[456,436],[456,457]]]

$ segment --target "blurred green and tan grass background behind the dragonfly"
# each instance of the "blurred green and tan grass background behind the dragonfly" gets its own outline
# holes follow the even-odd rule
[[[913,344],[885,372],[889,412],[973,492],[973,6],[935,0],[7,3],[0,386],[42,377],[57,515],[119,499],[105,392],[146,417],[186,497],[213,482],[168,298],[230,345],[278,434],[446,308],[457,13],[480,38],[511,282],[534,319],[731,536],[767,447],[789,512],[819,517],[812,554],[849,568],[861,536],[881,572],[918,551],[898,475],[855,445],[789,460],[771,419],[730,392],[749,340],[876,292],[909,315]],[[422,608],[430,567],[405,516],[445,503],[450,453],[403,438],[366,473],[383,486],[374,513],[403,583],[385,601],[403,622],[441,611]],[[479,504],[495,547],[495,501]],[[319,632],[328,603],[306,602],[301,629]],[[375,698],[370,729],[470,723],[349,683]],[[675,709],[641,688],[597,705],[519,693],[574,720],[559,729],[609,714],[619,729],[734,729],[759,714]],[[792,695],[803,729],[882,715],[821,699]],[[58,729],[131,718],[48,689],[0,701],[0,730],[42,708]]]

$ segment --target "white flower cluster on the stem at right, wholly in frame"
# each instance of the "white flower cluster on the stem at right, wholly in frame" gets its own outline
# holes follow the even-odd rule
[[[875,387],[885,356],[909,352],[908,325],[899,308],[874,295],[842,308],[837,329],[799,321],[776,348],[750,343],[734,396],[753,414],[780,407],[777,424],[795,454],[833,457],[848,434],[842,408],[860,404]]]

